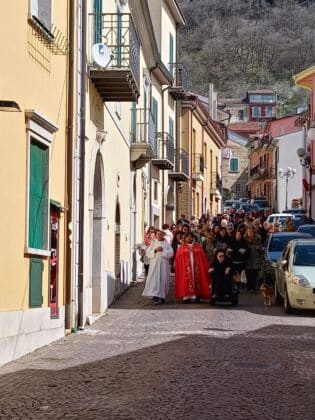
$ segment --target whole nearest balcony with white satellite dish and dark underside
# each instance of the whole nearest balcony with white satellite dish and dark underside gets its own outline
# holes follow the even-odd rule
[[[140,43],[131,15],[90,14],[89,42],[88,73],[103,101],[136,102]]]

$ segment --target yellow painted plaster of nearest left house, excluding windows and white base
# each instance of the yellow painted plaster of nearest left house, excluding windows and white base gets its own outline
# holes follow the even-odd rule
[[[53,2],[53,22],[67,35],[67,1]],[[25,110],[43,115],[59,130],[50,147],[50,198],[65,202],[66,55],[53,55],[28,23],[29,2],[5,2],[0,14],[0,99],[16,101],[21,112],[0,111],[0,311],[29,305],[26,246],[28,136]],[[63,305],[63,214],[59,240],[59,305]],[[43,258],[43,306],[48,304],[48,257]]]

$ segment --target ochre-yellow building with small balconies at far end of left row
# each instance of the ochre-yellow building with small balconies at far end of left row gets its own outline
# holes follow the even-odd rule
[[[177,218],[197,219],[221,211],[221,149],[226,143],[225,126],[210,118],[197,95],[182,103],[181,147],[189,155],[189,178],[177,188]]]

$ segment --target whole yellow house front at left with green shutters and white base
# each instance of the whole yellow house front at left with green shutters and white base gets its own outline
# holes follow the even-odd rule
[[[68,1],[0,21],[2,364],[64,335]]]

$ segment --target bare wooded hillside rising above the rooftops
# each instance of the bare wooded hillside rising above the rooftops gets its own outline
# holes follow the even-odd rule
[[[287,111],[305,103],[292,75],[315,63],[315,2],[294,0],[178,0],[187,24],[179,55],[191,89],[209,82],[221,97],[273,87]]]

